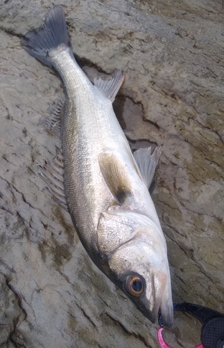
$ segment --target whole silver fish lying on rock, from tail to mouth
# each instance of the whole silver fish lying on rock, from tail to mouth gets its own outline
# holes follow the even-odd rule
[[[62,150],[40,166],[49,191],[71,215],[80,242],[94,264],[155,323],[173,324],[166,240],[148,191],[160,147],[132,153],[112,102],[125,75],[121,68],[94,84],[71,47],[62,6],[44,26],[21,40],[28,54],[58,73],[64,97],[45,120]]]

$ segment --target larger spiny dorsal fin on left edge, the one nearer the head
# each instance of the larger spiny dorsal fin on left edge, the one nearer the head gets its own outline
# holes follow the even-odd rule
[[[49,191],[55,198],[55,202],[62,205],[67,210],[67,201],[64,194],[64,168],[62,152],[53,159],[53,161],[46,162],[44,166],[38,166],[41,173],[38,175],[46,182],[46,190]]]

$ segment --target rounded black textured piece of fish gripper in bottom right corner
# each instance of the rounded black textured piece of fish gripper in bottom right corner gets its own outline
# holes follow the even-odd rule
[[[224,348],[224,318],[210,320],[203,326],[201,342],[204,348]]]

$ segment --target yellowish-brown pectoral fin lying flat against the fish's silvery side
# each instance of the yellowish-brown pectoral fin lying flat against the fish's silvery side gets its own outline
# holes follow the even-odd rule
[[[116,155],[110,152],[101,153],[98,156],[98,164],[107,187],[121,205],[130,196],[130,182],[126,166]]]

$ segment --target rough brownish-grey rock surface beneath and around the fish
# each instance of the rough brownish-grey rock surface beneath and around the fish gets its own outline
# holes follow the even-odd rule
[[[221,0],[60,2],[78,60],[126,81],[115,102],[133,148],[162,146],[153,200],[173,300],[224,313],[224,9]],[[60,142],[39,125],[60,80],[19,40],[49,0],[0,1],[0,347],[158,347],[152,325],[89,260],[37,177]],[[200,342],[175,315],[166,339]]]

